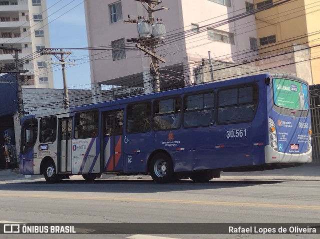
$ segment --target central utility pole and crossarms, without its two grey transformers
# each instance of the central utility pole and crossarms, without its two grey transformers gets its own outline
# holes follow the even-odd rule
[[[159,3],[162,3],[162,0],[135,0],[140,1],[142,4],[143,2],[146,3],[147,8],[144,6],[144,8],[148,12],[148,20],[147,22],[151,25],[154,21],[154,11],[162,10],[162,9],[168,9],[166,7],[161,7],[160,9],[154,9]],[[141,19],[141,18],[140,18]],[[125,23],[138,23],[136,20],[128,20],[124,21]],[[152,33],[152,32],[151,32]],[[151,64],[150,64],[150,72],[152,72],[153,76],[153,82],[152,82],[152,88],[153,92],[159,92],[160,91],[160,77],[159,77],[159,60],[163,63],[165,60],[156,54],[156,44],[159,43],[159,39],[154,37],[154,35],[150,34],[149,37],[143,38],[143,39],[135,39],[131,38],[130,40],[127,40],[128,42],[137,42],[135,47],[139,48],[149,56],[151,56]]]

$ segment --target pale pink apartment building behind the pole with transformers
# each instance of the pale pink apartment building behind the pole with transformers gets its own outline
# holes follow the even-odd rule
[[[147,19],[145,2],[84,1],[88,46],[100,47],[89,51],[92,88],[109,84],[141,87],[144,93],[152,91],[150,57],[137,49],[134,42],[145,36],[139,35],[137,24],[124,23],[136,22],[138,16]],[[253,0],[150,2],[159,3],[154,8],[154,22],[165,26],[165,36],[159,37],[156,45],[156,54],[165,60],[159,64],[161,90],[211,81],[211,77],[203,79],[198,73],[210,71],[209,54],[212,68],[241,63],[258,54],[254,14],[247,14],[246,8],[246,2],[253,4]],[[132,38],[133,42],[127,41]],[[227,78],[213,72],[214,80],[223,78],[222,75]]]

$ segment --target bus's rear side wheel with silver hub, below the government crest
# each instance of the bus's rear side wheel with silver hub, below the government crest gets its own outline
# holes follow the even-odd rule
[[[151,159],[149,173],[156,183],[165,184],[175,181],[172,162],[164,153],[158,153]]]

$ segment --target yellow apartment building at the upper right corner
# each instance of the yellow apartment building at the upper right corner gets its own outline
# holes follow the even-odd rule
[[[277,0],[254,0],[251,9],[276,4]],[[278,67],[309,82],[320,83],[318,0],[291,0],[255,14],[257,49],[264,68]],[[266,56],[267,59],[265,58]]]

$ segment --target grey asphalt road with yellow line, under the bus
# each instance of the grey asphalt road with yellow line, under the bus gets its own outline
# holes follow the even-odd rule
[[[255,177],[255,179],[250,179]],[[266,178],[263,178],[263,177]],[[148,178],[99,179],[80,176],[46,184],[42,177],[0,181],[0,221],[17,223],[319,223],[320,180],[286,176],[229,175],[209,183],[155,184]],[[281,177],[280,177],[281,178]],[[145,226],[148,226],[147,224]],[[15,238],[152,239],[151,234],[15,235]],[[170,231],[171,230],[171,231]],[[163,228],[156,237],[179,239],[318,238],[303,234],[177,234]],[[319,228],[317,230],[320,230]],[[166,233],[167,232],[167,233]],[[3,237],[2,237],[3,236]],[[12,235],[1,235],[12,238]],[[157,239],[157,238],[154,238]]]

